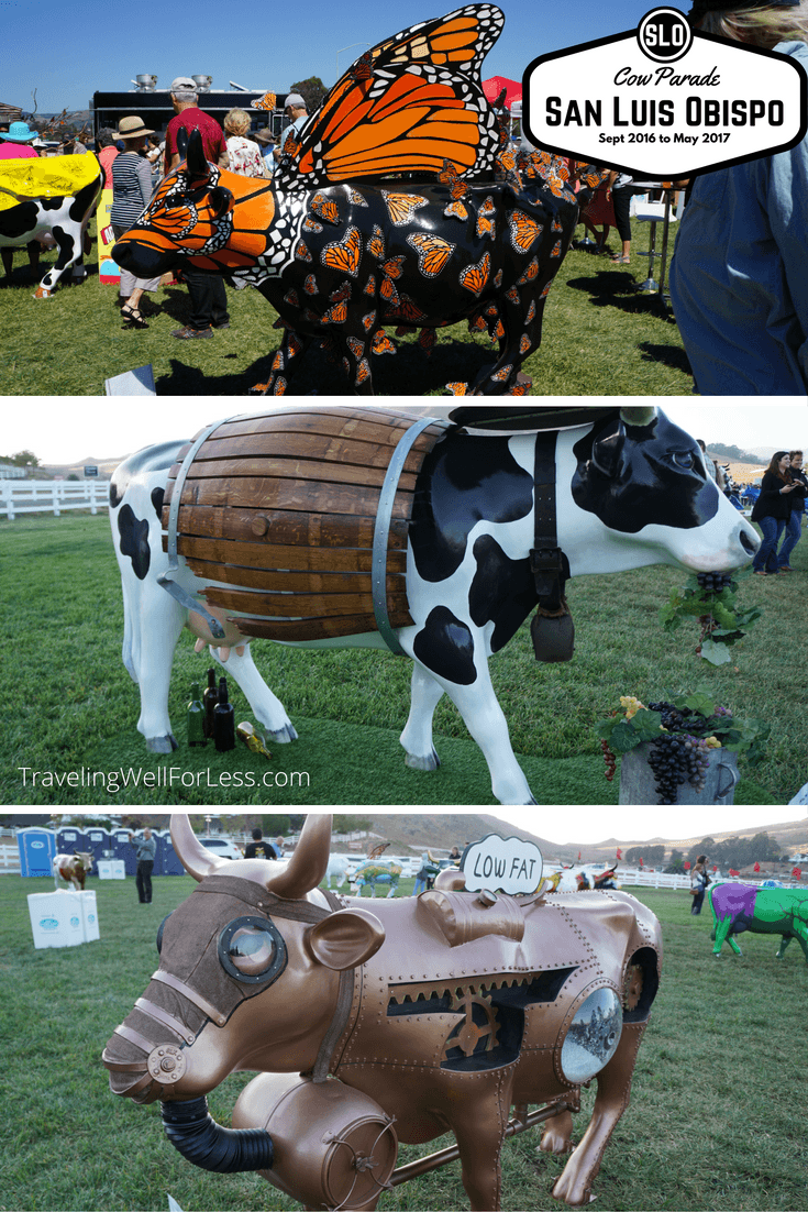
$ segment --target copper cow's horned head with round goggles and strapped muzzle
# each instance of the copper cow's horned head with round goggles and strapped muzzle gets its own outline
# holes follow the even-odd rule
[[[199,1099],[236,1069],[310,1069],[331,1024],[339,973],[384,941],[365,910],[309,896],[326,873],[331,817],[309,816],[288,863],[229,862],[187,816],[174,850],[199,887],[162,922],[160,966],[104,1051],[110,1087],[138,1103]]]

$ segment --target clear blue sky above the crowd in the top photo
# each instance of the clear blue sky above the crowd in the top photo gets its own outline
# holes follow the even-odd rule
[[[676,5],[683,12],[689,2]],[[653,0],[500,0],[505,29],[483,64],[492,75],[521,80],[537,56],[636,28]],[[93,92],[126,91],[138,73],[166,87],[177,75],[207,74],[213,88],[230,80],[247,88],[286,92],[296,80],[337,80],[367,45],[408,25],[442,16],[452,0],[306,0],[292,5],[155,0],[124,5],[85,0],[0,0],[0,102],[40,113],[85,109]],[[359,42],[357,46],[351,44]],[[344,47],[350,47],[344,50]],[[338,53],[337,52],[342,52]]]

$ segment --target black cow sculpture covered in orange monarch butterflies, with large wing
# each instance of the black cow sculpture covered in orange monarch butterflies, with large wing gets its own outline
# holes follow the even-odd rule
[[[257,287],[283,325],[269,394],[323,339],[371,394],[372,356],[395,353],[385,327],[420,328],[429,349],[462,320],[499,355],[452,390],[523,394],[578,201],[560,159],[534,153],[520,168],[505,147],[480,80],[503,24],[472,4],[367,51],[287,138],[271,183],[210,164],[193,133],[115,261],[154,276],[188,258]]]

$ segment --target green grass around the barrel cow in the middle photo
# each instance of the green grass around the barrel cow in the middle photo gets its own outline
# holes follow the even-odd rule
[[[0,521],[0,802],[224,807],[492,801],[482,754],[446,697],[435,718],[441,768],[424,773],[405,766],[399,733],[409,709],[409,662],[383,652],[311,652],[256,642],[258,668],[300,737],[291,745],[274,745],[267,766],[241,745],[233,754],[217,754],[211,745],[188,748],[184,718],[191,680],[205,680],[208,661],[194,654],[185,631],[170,697],[180,748],[172,758],[147,754],[136,731],[139,696],[121,662],[121,587],[107,518],[27,515]],[[806,710],[802,697],[790,692],[789,670],[808,667],[808,542],[797,545],[793,562],[797,571],[790,578],[744,582],[743,604],[762,602],[766,614],[733,650],[734,663],[717,669],[694,656],[697,624],[666,635],[658,622],[658,608],[682,583],[682,572],[654,566],[571,582],[574,659],[537,664],[526,624],[491,662],[514,749],[535,799],[617,802],[618,782],[603,778],[595,722],[619,705],[620,694],[648,703],[706,686],[735,714],[773,725],[763,764],[743,768],[737,802],[787,804],[806,781]],[[235,684],[231,699],[236,721],[250,718]],[[103,779],[121,768],[134,771],[139,783],[113,790]],[[173,783],[144,785],[145,776],[167,779],[172,770]],[[309,776],[308,785],[303,774]],[[79,784],[69,785],[68,776]],[[91,776],[94,784],[87,782]],[[258,785],[246,785],[247,777]]]

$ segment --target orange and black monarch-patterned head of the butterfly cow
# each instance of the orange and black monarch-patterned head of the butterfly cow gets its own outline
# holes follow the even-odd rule
[[[190,259],[195,269],[228,274],[256,264],[275,217],[271,182],[243,177],[205,159],[193,131],[187,159],[160,183],[113,257],[139,278],[155,278]]]

